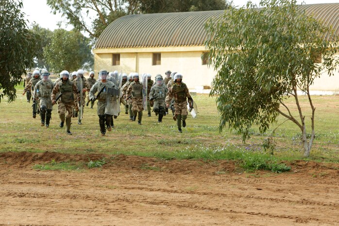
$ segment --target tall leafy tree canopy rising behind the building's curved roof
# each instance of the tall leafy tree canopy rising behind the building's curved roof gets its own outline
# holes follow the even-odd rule
[[[53,13],[59,12],[78,31],[84,31],[95,41],[115,19],[139,13],[167,13],[226,9],[225,0],[47,0]],[[92,24],[85,18],[96,17]]]

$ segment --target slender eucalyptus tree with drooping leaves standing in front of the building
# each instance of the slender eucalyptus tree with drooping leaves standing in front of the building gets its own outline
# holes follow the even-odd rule
[[[206,23],[205,45],[217,71],[210,95],[220,112],[219,129],[228,125],[245,142],[251,126],[264,133],[282,115],[300,129],[307,157],[315,139],[316,112],[309,87],[323,71],[333,75],[338,39],[295,0],[262,0],[260,6],[249,2]],[[308,97],[312,113],[307,123],[298,90]],[[294,99],[296,111],[287,106],[288,98]]]

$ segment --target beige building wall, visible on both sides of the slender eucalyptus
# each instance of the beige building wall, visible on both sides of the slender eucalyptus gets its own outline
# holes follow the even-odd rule
[[[152,65],[153,52],[161,52],[161,65]],[[182,50],[182,51],[180,51]],[[120,66],[112,66],[112,53],[120,51]],[[126,52],[123,52],[126,51]],[[133,52],[134,51],[134,52]],[[142,52],[144,51],[144,52]],[[94,69],[97,73],[101,69],[108,71],[122,71],[150,73],[152,79],[156,74],[165,75],[166,70],[182,73],[183,82],[188,88],[195,89],[198,86],[211,86],[216,72],[202,65],[201,54],[203,47],[181,48],[135,48],[135,49],[96,49],[94,54]],[[339,57],[339,55],[338,55]],[[338,66],[339,69],[339,66]],[[339,91],[339,72],[329,77],[325,72],[315,80],[311,90]]]

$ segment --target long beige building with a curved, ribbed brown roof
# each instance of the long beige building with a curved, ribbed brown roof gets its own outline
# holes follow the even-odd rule
[[[307,14],[332,26],[339,35],[339,3],[302,5]],[[164,75],[179,71],[190,89],[208,88],[214,75],[207,66],[204,23],[224,11],[128,15],[112,22],[99,37],[94,52],[95,71]],[[337,73],[337,75],[339,75]],[[313,90],[339,90],[339,76],[322,76]]]

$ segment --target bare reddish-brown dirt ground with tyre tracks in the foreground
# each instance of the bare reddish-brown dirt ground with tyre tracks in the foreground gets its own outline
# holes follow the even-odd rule
[[[106,157],[102,168],[34,164]],[[245,173],[228,161],[0,153],[0,226],[339,225],[339,164]]]

